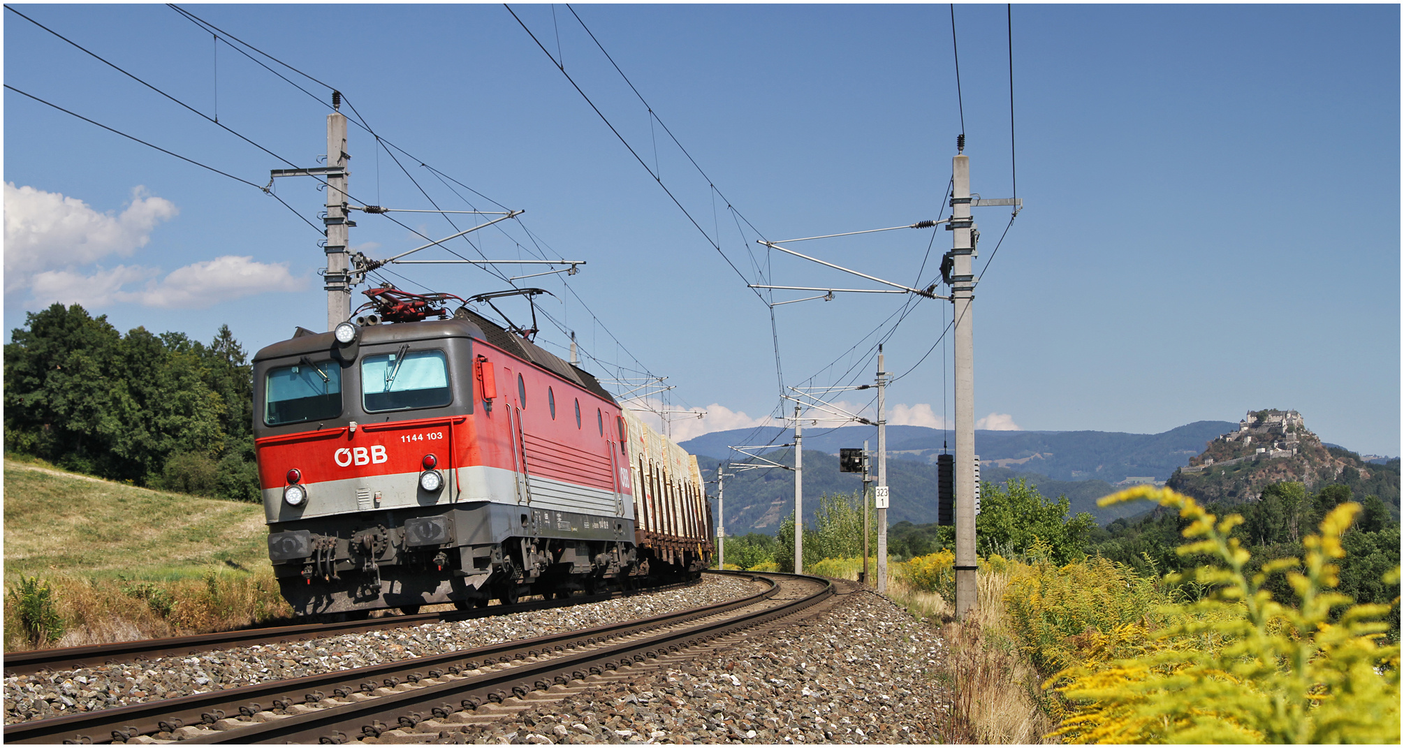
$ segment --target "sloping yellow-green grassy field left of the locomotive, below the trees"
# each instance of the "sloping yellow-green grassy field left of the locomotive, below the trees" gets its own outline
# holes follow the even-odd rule
[[[265,537],[257,504],[6,459],[6,650],[177,636],[286,616]],[[27,634],[17,620],[20,581],[35,577],[49,587],[60,620],[60,633],[48,637]]]

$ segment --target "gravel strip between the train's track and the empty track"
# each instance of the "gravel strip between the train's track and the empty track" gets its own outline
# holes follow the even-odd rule
[[[755,589],[747,580],[709,574],[688,588],[570,608],[7,676],[6,724],[591,629],[741,598]]]

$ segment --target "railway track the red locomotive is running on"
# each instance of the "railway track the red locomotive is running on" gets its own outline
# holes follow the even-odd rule
[[[658,587],[637,588],[632,591],[601,592],[598,595],[573,595],[566,599],[542,599],[521,602],[517,605],[493,605],[473,610],[448,610],[439,613],[416,613],[409,616],[385,616],[364,620],[347,620],[337,623],[298,623],[293,626],[270,626],[258,629],[240,629],[236,632],[216,632],[211,634],[178,636],[168,639],[143,639],[138,641],[118,641],[114,644],[98,644],[93,647],[63,647],[51,650],[31,650],[22,653],[6,653],[6,675],[34,675],[39,671],[80,669],[90,665],[107,665],[114,662],[131,662],[140,658],[154,657],[185,657],[191,654],[226,650],[230,647],[251,647],[254,644],[277,644],[286,641],[306,641],[309,639],[324,639],[330,636],[348,634],[357,632],[372,632],[379,629],[404,629],[424,623],[438,623],[451,620],[470,620],[490,616],[505,616],[528,610],[546,610],[550,608],[564,608],[587,602],[601,602],[628,595],[646,592],[661,592],[698,584],[678,582]]]

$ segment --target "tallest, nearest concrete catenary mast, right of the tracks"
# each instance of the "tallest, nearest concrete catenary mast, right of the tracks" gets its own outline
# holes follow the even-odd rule
[[[962,136],[963,140],[963,136]],[[959,143],[965,150],[965,143]],[[974,556],[974,243],[970,219],[970,157],[958,153],[951,160],[955,181],[951,198],[951,303],[955,307],[956,369],[956,617],[976,612]]]

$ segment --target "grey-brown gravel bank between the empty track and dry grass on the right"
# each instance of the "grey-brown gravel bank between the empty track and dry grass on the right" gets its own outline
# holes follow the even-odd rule
[[[684,664],[543,702],[448,742],[946,742],[939,632],[872,591]],[[622,671],[621,671],[622,672]]]

